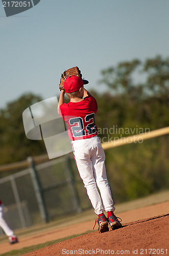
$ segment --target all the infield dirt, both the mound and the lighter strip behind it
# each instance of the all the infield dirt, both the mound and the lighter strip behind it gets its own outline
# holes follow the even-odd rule
[[[164,199],[164,194],[160,194],[160,198]],[[139,203],[143,205],[144,201],[139,201]],[[131,208],[131,205],[128,205],[128,207]],[[52,227],[48,227],[46,231],[39,230],[32,234],[29,233],[29,235],[25,234],[23,237],[19,237],[19,243],[12,246],[8,244],[8,238],[6,238],[6,241],[2,241],[0,244],[0,252],[5,253],[74,234],[86,233],[22,255],[52,256],[73,255],[73,253],[74,255],[91,255],[91,252],[92,255],[113,255],[113,252],[119,255],[167,255],[169,254],[168,213],[169,201],[118,212],[117,216],[122,218],[123,227],[102,234],[99,234],[98,231],[89,233],[89,230],[92,230],[94,226],[95,215],[90,220],[85,220],[83,217],[81,222],[77,217],[77,219],[75,218],[77,222],[68,223],[70,225],[67,226],[61,223],[60,226],[52,225]],[[97,229],[95,228],[95,230]]]

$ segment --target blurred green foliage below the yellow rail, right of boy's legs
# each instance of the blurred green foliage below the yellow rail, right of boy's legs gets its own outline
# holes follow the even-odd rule
[[[168,135],[106,150],[107,176],[116,203],[168,189]]]

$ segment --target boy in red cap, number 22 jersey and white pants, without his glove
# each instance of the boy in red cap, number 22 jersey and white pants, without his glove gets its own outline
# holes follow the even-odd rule
[[[64,103],[65,93],[70,98],[67,104]],[[58,112],[68,126],[68,135],[79,175],[87,189],[95,214],[98,215],[95,225],[98,222],[99,233],[109,230],[108,223],[113,230],[120,228],[122,225],[114,215],[114,201],[106,176],[105,154],[94,121],[97,102],[83,88],[83,80],[80,77],[73,75],[65,80]],[[104,211],[107,212],[107,217]]]

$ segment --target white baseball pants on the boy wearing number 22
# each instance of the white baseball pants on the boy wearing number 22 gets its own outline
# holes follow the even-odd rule
[[[95,136],[90,139],[75,140],[71,143],[79,175],[87,189],[95,214],[114,211],[114,201],[104,163],[105,154],[99,138]]]

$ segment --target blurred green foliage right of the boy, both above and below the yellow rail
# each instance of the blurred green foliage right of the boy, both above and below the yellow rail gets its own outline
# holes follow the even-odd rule
[[[104,95],[95,94],[101,140],[113,141],[169,125],[169,58],[125,61],[101,74],[100,82],[108,89]],[[138,81],[137,77],[144,79]],[[168,136],[106,150],[107,174],[116,202],[168,188]]]

